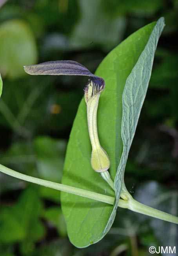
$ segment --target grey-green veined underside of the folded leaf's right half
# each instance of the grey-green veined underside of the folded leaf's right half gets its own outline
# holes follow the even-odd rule
[[[121,184],[125,190],[124,185],[124,170],[127,163],[129,150],[136,131],[140,111],[147,93],[149,80],[151,77],[151,70],[153,66],[154,53],[158,44],[158,39],[164,28],[164,18],[160,18],[154,26],[153,32],[149,38],[145,49],[140,55],[136,65],[131,74],[128,76],[125,83],[122,105],[122,126],[121,135],[123,141],[122,157],[118,166],[116,177],[114,179],[114,190],[116,192],[115,210],[118,206],[118,200],[121,192]],[[114,214],[114,210],[113,213]]]

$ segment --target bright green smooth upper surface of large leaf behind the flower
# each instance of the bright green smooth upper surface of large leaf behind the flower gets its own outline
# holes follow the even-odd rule
[[[96,75],[104,78],[105,90],[98,106],[98,134],[101,146],[111,161],[110,174],[114,180],[122,154],[122,93],[127,77],[144,50],[155,22],[133,33],[114,48],[102,61]],[[87,114],[82,99],[71,131],[64,164],[64,184],[114,196],[100,174],[91,168],[91,143],[87,127]],[[111,227],[113,206],[88,198],[61,193],[62,210],[71,243],[86,247],[96,243]]]

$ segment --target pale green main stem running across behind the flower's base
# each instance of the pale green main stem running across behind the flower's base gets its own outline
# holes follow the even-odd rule
[[[87,191],[85,189],[79,189],[76,187],[71,187],[71,186],[67,186],[64,184],[59,184],[59,183],[55,183],[55,182],[51,182],[48,180],[42,180],[39,178],[35,178],[35,177],[31,177],[31,176],[27,176],[25,174],[22,173],[18,173],[16,171],[13,171],[12,169],[9,169],[7,167],[5,167],[4,165],[0,164],[0,172],[8,174],[10,176],[13,176],[15,178],[19,178],[21,180],[25,180],[28,182],[32,182],[38,185],[42,185],[45,187],[50,187],[53,189],[57,189],[60,191],[64,191],[67,193],[72,193],[74,195],[79,195],[81,197],[87,197],[87,198],[91,198],[100,202],[105,202],[107,204],[114,204],[114,197],[110,197],[107,195],[102,195],[99,193],[95,193],[92,191]],[[172,223],[176,223],[178,224],[178,218],[174,215],[171,215],[169,213],[165,213],[163,211],[159,211],[156,210],[154,208],[151,208],[149,206],[145,206],[144,204],[141,204],[139,202],[137,202],[136,200],[134,200],[131,195],[129,196],[128,200],[119,200],[118,206],[121,208],[127,208],[129,210],[132,211],[136,211],[138,213],[142,213],[151,217],[155,217],[158,219],[162,219],[164,221],[169,221]]]

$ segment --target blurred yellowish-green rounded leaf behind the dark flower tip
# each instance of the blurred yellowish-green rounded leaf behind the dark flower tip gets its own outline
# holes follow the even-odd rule
[[[36,63],[33,33],[23,20],[8,20],[0,25],[0,71],[5,76],[24,76],[24,65]]]

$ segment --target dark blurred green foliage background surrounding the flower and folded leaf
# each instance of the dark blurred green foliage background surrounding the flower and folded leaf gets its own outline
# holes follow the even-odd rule
[[[24,65],[69,59],[94,72],[128,35],[164,16],[125,183],[140,202],[176,215],[177,11],[177,0],[0,1],[0,163],[60,182],[87,83],[29,76]],[[77,249],[67,238],[59,191],[0,173],[0,256],[144,256],[150,246],[173,247],[176,240],[174,224],[119,208],[102,241]]]

